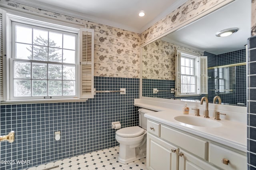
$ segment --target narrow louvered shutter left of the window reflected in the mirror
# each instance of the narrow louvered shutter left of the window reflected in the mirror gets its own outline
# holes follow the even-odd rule
[[[181,94],[181,70],[180,70],[181,52],[176,50],[176,80],[175,80],[175,95]]]

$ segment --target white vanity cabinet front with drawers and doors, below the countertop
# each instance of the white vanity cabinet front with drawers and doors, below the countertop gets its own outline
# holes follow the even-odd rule
[[[246,170],[246,152],[148,119],[149,170]]]

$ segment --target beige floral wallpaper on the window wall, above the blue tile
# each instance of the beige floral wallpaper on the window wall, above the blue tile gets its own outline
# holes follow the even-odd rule
[[[9,0],[1,1],[1,3],[94,29],[94,76],[139,78],[140,34]]]

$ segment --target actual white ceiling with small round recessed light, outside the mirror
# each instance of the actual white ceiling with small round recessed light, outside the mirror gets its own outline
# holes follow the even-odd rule
[[[30,6],[142,33],[187,0],[14,0]],[[139,17],[139,12],[145,12]]]

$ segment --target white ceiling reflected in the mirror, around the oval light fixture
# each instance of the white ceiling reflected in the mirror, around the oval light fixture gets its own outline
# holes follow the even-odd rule
[[[216,32],[227,28],[238,28],[238,32],[227,37],[217,37]],[[245,48],[251,33],[251,2],[234,2],[204,16],[203,18],[172,32],[164,40],[187,47],[194,47],[212,54],[223,54]]]

